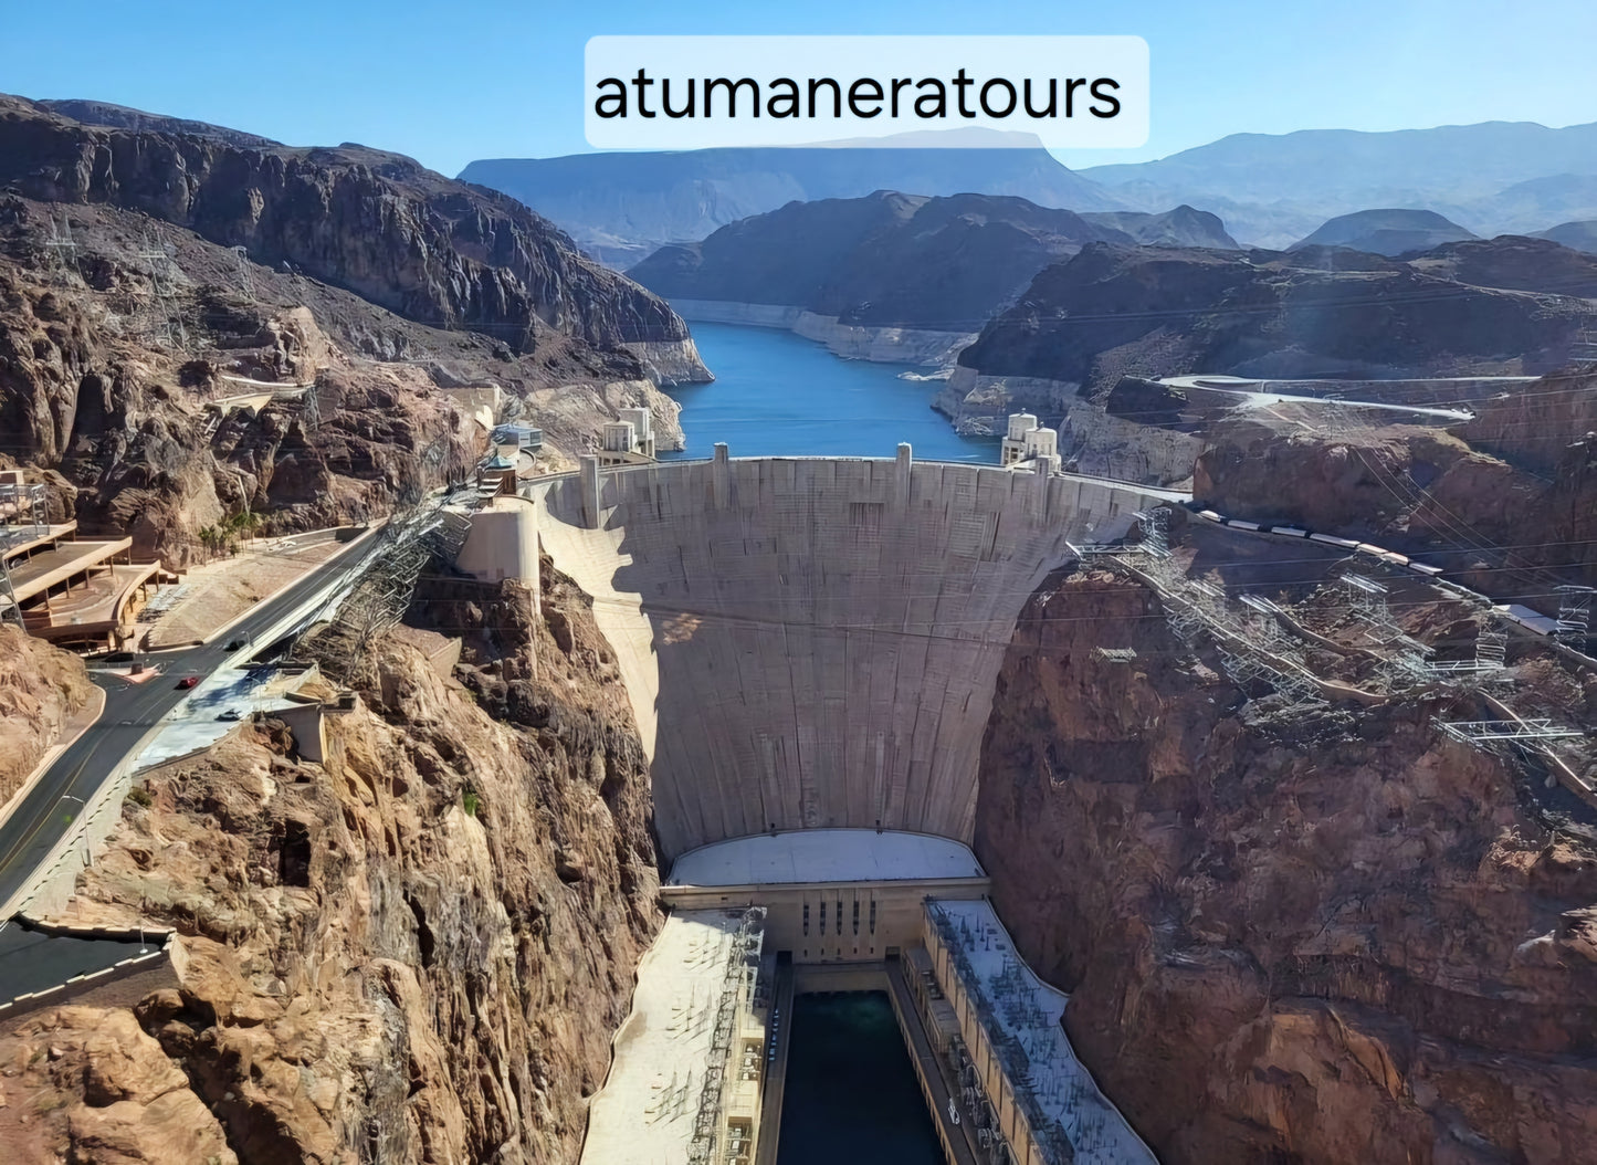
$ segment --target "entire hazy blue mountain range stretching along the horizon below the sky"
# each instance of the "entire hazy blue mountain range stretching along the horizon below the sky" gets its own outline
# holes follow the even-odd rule
[[[875,190],[1014,195],[1078,213],[1188,205],[1246,245],[1286,248],[1326,219],[1370,208],[1434,211],[1482,237],[1597,219],[1597,123],[1233,134],[1083,171],[1041,147],[866,147],[500,158],[473,161],[460,177],[535,206],[615,267],[789,201]]]

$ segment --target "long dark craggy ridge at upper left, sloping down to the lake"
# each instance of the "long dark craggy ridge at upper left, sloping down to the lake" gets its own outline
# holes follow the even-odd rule
[[[671,308],[585,259],[521,203],[410,158],[125,121],[86,125],[0,97],[0,185],[42,201],[141,211],[407,320],[485,332],[513,352],[535,352],[551,331],[600,350],[687,339]]]

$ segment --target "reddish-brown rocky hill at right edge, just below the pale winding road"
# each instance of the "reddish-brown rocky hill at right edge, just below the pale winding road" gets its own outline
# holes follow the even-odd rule
[[[1594,388],[1592,371],[1547,376],[1447,430],[1362,409],[1238,411],[1207,425],[1193,492],[1238,518],[1426,550],[1487,593],[1555,610],[1559,580],[1541,569],[1597,583]]]

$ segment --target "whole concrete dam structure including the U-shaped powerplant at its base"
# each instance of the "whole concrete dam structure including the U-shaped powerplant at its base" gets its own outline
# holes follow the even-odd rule
[[[909,446],[602,463],[616,449],[473,518],[463,569],[535,572],[541,543],[592,596],[671,865],[585,1165],[775,1162],[794,996],[853,989],[888,992],[949,1162],[1153,1160],[969,844],[1022,604],[1072,543],[1175,495],[1056,473],[1032,443],[1032,471]]]

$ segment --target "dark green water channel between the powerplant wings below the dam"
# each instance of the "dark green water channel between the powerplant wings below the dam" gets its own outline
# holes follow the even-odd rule
[[[883,991],[797,996],[781,1165],[942,1165],[898,1018]]]

